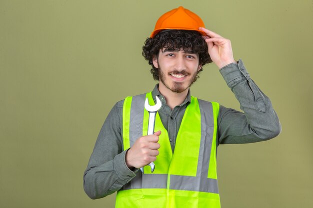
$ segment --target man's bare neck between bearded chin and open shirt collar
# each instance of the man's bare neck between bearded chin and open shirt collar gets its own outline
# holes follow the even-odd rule
[[[164,96],[166,104],[173,109],[175,106],[183,103],[188,94],[188,89],[182,92],[176,93],[165,87],[161,82],[158,85],[158,91]]]

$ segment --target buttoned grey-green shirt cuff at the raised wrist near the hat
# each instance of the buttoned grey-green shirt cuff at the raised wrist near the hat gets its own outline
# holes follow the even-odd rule
[[[237,64],[230,63],[220,68],[219,72],[230,88],[244,79],[249,79],[249,73],[246,71],[241,59],[237,61]]]

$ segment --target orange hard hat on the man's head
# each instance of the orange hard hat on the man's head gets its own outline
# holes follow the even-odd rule
[[[206,35],[205,32],[198,29],[199,27],[205,27],[202,19],[192,11],[179,6],[167,11],[157,19],[150,37],[154,37],[156,33],[163,29],[195,30],[202,35]]]

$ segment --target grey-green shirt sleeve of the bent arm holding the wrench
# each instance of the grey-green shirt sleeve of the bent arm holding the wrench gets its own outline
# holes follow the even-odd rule
[[[98,199],[118,191],[136,176],[125,163],[122,147],[122,106],[115,104],[106,117],[83,174],[83,188],[91,199]],[[136,170],[137,171],[137,170]]]

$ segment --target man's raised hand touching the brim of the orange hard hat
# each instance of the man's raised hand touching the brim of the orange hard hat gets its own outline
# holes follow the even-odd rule
[[[199,30],[206,33],[207,36],[203,38],[207,44],[208,54],[219,69],[229,63],[237,63],[232,55],[230,40],[203,27],[199,27]]]

